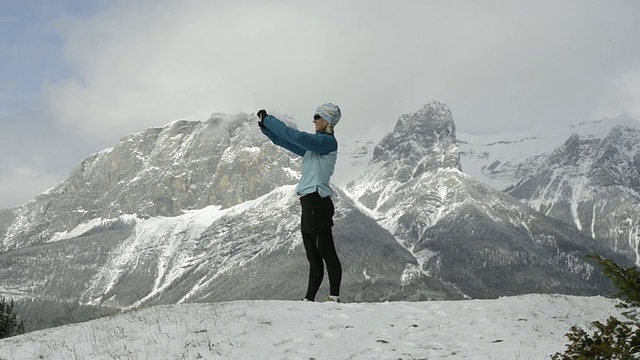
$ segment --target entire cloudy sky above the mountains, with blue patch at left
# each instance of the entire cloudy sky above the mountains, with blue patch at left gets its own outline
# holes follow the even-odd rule
[[[122,136],[260,108],[380,137],[447,102],[459,131],[640,119],[635,0],[0,0],[0,208]]]

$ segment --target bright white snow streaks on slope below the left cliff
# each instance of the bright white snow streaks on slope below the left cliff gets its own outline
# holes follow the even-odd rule
[[[203,278],[201,284],[193,287],[182,298],[184,301],[206,287],[207,282],[219,274],[242,266],[282,242],[295,240],[274,237],[264,239],[260,246],[256,247],[253,246],[251,239],[238,237],[235,239],[233,250],[230,251],[226,249],[224,244],[226,241],[224,235],[227,230],[222,230],[225,233],[220,233],[208,243],[207,248],[217,249],[211,252],[198,244],[205,231],[215,227],[216,222],[225,218],[253,217],[253,215],[245,215],[245,212],[255,209],[286,209],[296,200],[295,187],[287,185],[258,199],[226,209],[222,209],[220,206],[208,206],[203,209],[185,211],[182,215],[174,217],[139,218],[134,214],[123,215],[117,219],[94,219],[78,225],[71,231],[56,233],[50,241],[72,239],[117,221],[132,224],[134,227],[132,235],[122,242],[108,264],[99,270],[89,287],[88,294],[94,294],[91,303],[100,304],[109,301],[109,298],[105,298],[101,294],[108,294],[117,285],[123,274],[139,266],[140,262],[149,261],[150,258],[156,261],[156,265],[149,269],[156,274],[153,289],[132,306],[142,304],[161,294],[187,272],[202,266],[211,266],[210,276],[206,280]],[[212,263],[217,266],[212,266]]]

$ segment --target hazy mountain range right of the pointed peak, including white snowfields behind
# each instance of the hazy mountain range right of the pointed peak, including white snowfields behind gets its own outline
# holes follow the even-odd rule
[[[463,134],[463,170],[640,264],[640,121],[553,132]],[[510,139],[510,140],[509,140]]]

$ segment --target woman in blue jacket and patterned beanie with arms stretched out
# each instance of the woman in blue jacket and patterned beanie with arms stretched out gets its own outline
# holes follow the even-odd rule
[[[309,285],[303,300],[315,301],[324,276],[324,263],[329,275],[329,297],[326,301],[340,301],[342,265],[333,243],[333,190],[329,179],[336,166],[338,142],[333,128],[342,116],[334,104],[322,104],[313,116],[315,134],[288,127],[266,110],[258,111],[258,125],[271,142],[302,159],[302,177],[298,183],[298,196],[302,205],[302,241],[309,260]],[[323,263],[324,261],[324,263]]]

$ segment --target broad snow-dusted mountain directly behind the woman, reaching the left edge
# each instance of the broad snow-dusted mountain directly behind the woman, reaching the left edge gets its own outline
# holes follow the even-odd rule
[[[300,298],[299,161],[245,114],[126,136],[3,213],[0,291],[120,307]],[[335,201],[345,300],[461,296],[348,197]]]

